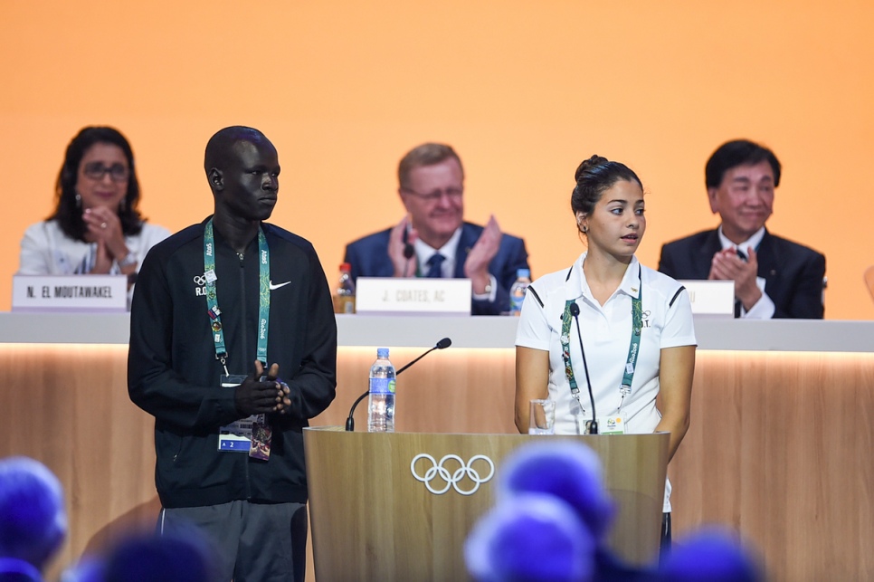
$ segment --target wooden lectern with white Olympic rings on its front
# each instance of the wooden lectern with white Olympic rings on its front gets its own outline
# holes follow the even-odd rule
[[[470,579],[462,547],[494,505],[504,457],[545,439],[573,439],[598,454],[618,510],[607,545],[629,563],[650,563],[659,549],[667,433],[376,434],[328,426],[304,429],[316,579]]]

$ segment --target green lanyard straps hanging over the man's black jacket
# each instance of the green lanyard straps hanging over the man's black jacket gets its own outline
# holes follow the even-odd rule
[[[258,295],[258,348],[257,358],[267,367],[267,331],[270,325],[271,310],[271,253],[267,246],[267,237],[263,229],[258,229],[259,256],[259,295]],[[210,218],[204,229],[204,278],[206,279],[206,308],[210,319],[210,330],[215,344],[215,359],[222,362],[224,373],[227,374],[227,349],[224,347],[224,330],[222,329],[222,310],[218,307],[218,294],[215,289],[215,238],[213,235],[213,219]],[[241,306],[242,307],[242,306]]]

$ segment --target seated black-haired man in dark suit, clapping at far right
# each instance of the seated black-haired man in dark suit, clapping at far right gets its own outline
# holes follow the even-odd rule
[[[735,315],[755,320],[822,319],[825,257],[768,232],[780,162],[737,139],[708,159],[710,209],[722,224],[661,247],[659,271],[674,279],[735,281]]]

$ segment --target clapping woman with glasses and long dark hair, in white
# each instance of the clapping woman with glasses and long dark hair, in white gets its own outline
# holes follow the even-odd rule
[[[57,204],[21,242],[20,275],[125,274],[133,285],[148,250],[170,232],[146,224],[128,140],[87,127],[72,138],[56,186]]]

